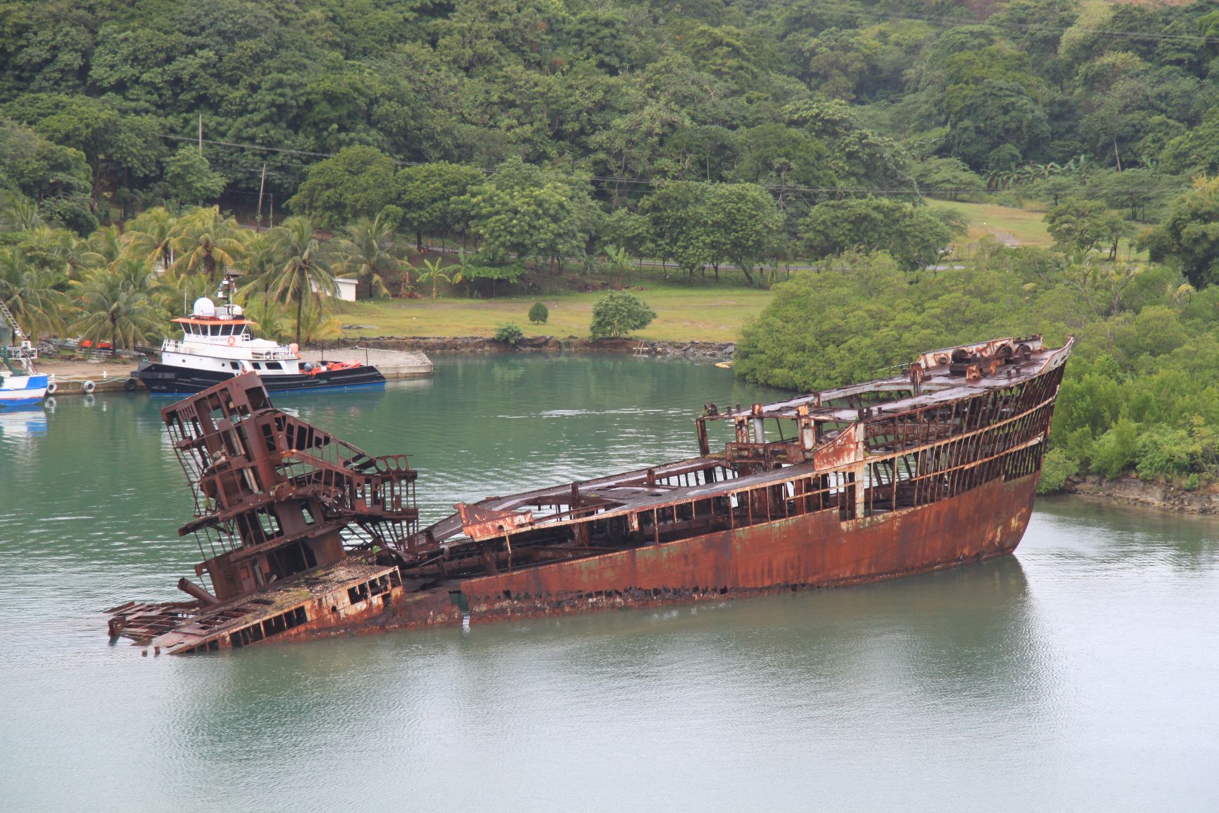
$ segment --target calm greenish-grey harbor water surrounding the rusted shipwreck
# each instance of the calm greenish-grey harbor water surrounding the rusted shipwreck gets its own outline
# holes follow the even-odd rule
[[[403,384],[277,403],[411,452],[429,519],[772,395],[617,357]],[[165,403],[0,412],[0,809],[1214,807],[1219,522],[1042,500],[1014,557],[885,584],[145,658],[100,611],[199,558]]]

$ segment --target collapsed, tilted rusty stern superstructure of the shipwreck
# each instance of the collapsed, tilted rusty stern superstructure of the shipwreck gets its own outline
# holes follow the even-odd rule
[[[112,635],[168,652],[245,646],[349,627],[402,592],[377,552],[400,547],[418,523],[416,472],[403,455],[369,457],[271,406],[245,373],[161,411],[195,497],[193,602],[128,603]]]

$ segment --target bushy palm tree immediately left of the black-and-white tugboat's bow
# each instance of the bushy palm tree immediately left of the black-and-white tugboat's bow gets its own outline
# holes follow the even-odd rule
[[[95,341],[108,338],[111,352],[163,333],[165,313],[145,288],[147,273],[139,260],[98,271],[80,286],[82,314],[69,329]]]

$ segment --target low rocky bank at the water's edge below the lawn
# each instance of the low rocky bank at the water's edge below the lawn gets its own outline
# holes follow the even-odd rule
[[[375,336],[340,339],[332,347],[373,347],[378,350],[412,350],[451,353],[501,352],[612,352],[631,356],[662,356],[675,358],[730,360],[736,352],[731,341],[644,341],[640,339],[581,339],[568,336],[527,336],[516,345],[486,336]]]

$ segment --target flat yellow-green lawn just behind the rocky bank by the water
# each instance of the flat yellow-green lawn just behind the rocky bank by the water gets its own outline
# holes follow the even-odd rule
[[[640,290],[642,288],[642,290]],[[666,285],[644,283],[630,293],[656,311],[656,319],[631,336],[653,341],[735,341],[741,327],[762,312],[773,291],[734,283],[719,285]],[[343,302],[334,310],[345,325],[345,338],[357,336],[490,336],[505,322],[514,322],[527,336],[588,336],[592,304],[602,293],[542,294],[467,299],[453,291],[439,299]],[[546,324],[530,324],[534,302],[550,308]]]

